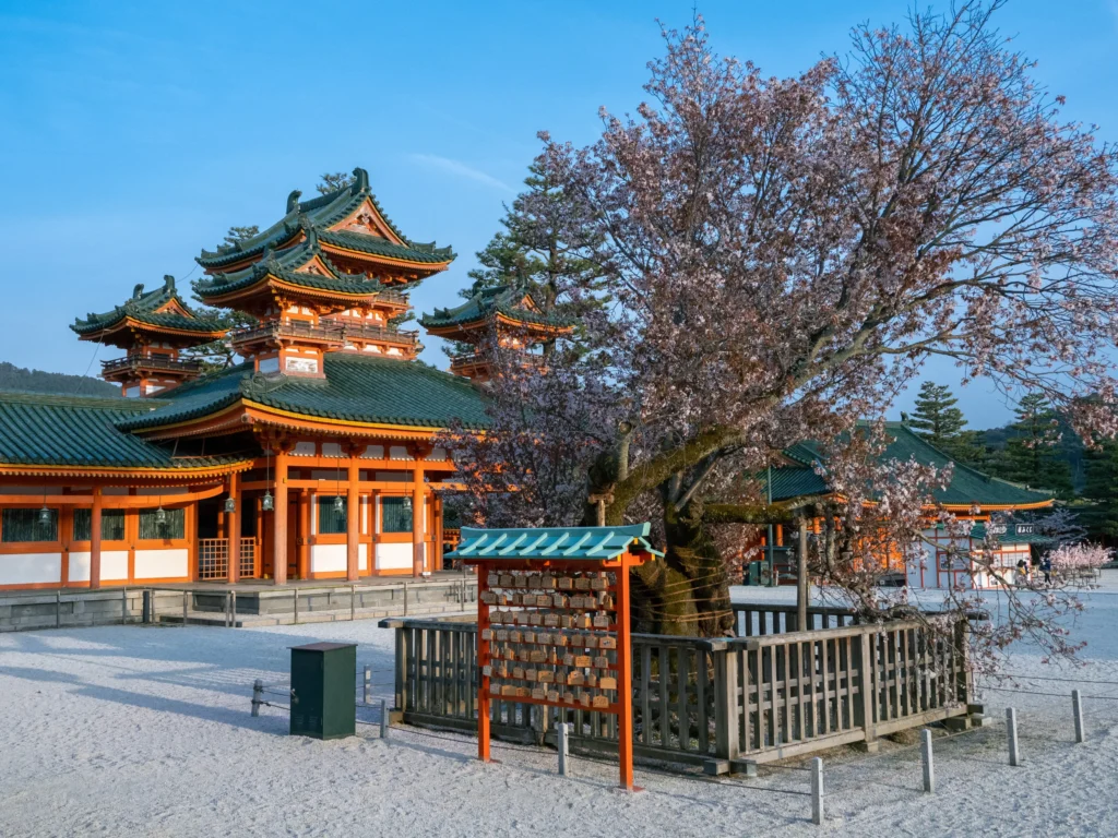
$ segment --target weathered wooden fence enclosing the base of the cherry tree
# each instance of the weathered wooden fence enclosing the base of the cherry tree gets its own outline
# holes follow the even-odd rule
[[[633,636],[637,755],[723,772],[968,713],[966,620],[944,637],[918,621],[863,626],[842,609],[812,609],[817,628],[789,631],[795,609],[790,618],[779,607],[736,610],[743,637]],[[382,625],[396,629],[395,705],[402,720],[476,730],[476,625]],[[494,736],[553,741],[558,722],[574,724],[572,745],[616,751],[610,714],[492,702]]]

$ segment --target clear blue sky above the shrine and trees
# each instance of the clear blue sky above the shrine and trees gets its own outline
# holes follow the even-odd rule
[[[319,174],[354,165],[406,235],[459,254],[413,296],[417,311],[446,304],[515,194],[536,132],[587,143],[600,105],[632,112],[661,50],[655,19],[683,26],[691,9],[0,0],[0,360],[95,372],[94,347],[67,328],[75,315],[163,274],[197,277],[193,257],[230,225],[272,223],[292,189],[313,193]],[[773,75],[907,9],[700,4],[720,51]],[[1001,27],[1071,117],[1118,140],[1118,0],[1012,0]],[[439,342],[426,343],[442,365]],[[949,366],[929,375],[958,380]],[[1008,416],[980,383],[959,394],[973,426]]]

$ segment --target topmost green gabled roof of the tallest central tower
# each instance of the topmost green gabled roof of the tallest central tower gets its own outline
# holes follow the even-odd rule
[[[361,253],[369,253],[390,258],[408,259],[410,261],[439,264],[454,258],[454,251],[449,247],[437,248],[434,242],[429,245],[417,244],[408,239],[392,220],[385,213],[377,197],[369,189],[369,173],[364,169],[353,170],[353,183],[342,187],[333,192],[328,192],[310,201],[300,201],[302,196],[295,190],[287,197],[287,212],[272,227],[263,232],[253,236],[245,241],[219,247],[217,250],[202,250],[197,257],[198,264],[212,270],[226,265],[233,265],[245,258],[256,257],[267,249],[278,249],[287,241],[291,241],[300,230],[315,230],[325,236],[345,236],[347,244],[341,240],[334,242],[339,247],[348,247]],[[345,216],[361,206],[361,202],[369,199],[377,212],[385,220],[391,231],[405,242],[405,245],[394,245],[388,239],[379,236],[366,236],[359,232],[347,231],[344,234],[325,230],[330,225],[341,221]],[[352,239],[352,240],[350,240]]]

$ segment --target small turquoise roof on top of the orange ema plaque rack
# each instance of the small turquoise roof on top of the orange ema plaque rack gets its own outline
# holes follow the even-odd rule
[[[485,561],[552,559],[556,561],[609,561],[636,542],[642,552],[663,555],[648,543],[648,524],[629,526],[556,526],[515,530],[462,527],[458,549],[449,559]]]

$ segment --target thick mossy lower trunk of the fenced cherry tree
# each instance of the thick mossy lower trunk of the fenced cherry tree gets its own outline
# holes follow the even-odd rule
[[[689,505],[676,514],[669,505],[664,531],[664,558],[634,572],[636,630],[682,637],[732,634],[729,574],[701,511]]]

